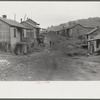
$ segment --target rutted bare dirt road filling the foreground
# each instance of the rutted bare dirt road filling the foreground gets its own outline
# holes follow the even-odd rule
[[[43,51],[28,56],[0,54],[1,81],[100,80],[99,56],[68,57]],[[94,59],[96,61],[94,61]]]

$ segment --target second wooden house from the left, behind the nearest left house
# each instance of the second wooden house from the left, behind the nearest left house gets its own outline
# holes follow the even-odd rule
[[[27,19],[26,21],[21,22],[21,24],[31,29],[27,30],[27,37],[29,37],[28,42],[30,44],[37,43],[40,35],[40,27],[38,26],[39,24],[31,19]]]

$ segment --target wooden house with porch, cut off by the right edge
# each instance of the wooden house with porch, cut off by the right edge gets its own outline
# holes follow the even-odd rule
[[[100,51],[100,27],[97,27],[92,31],[86,33],[86,36],[88,44],[88,54]]]

